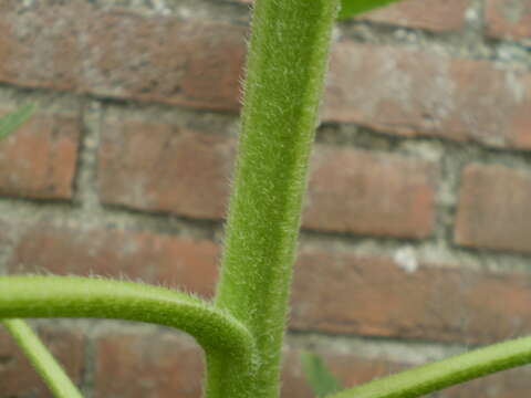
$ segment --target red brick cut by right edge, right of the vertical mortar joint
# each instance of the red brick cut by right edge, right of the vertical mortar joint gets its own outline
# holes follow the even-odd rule
[[[458,244],[531,252],[531,174],[473,164],[461,177]]]

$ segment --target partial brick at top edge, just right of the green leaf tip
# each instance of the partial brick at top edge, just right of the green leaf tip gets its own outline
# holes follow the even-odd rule
[[[236,1],[247,4],[252,3],[252,0]],[[405,0],[366,12],[357,19],[436,32],[449,31],[464,27],[465,11],[469,6],[470,0]]]

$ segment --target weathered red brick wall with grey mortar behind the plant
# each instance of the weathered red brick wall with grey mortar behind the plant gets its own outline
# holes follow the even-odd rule
[[[249,1],[0,0],[0,272],[210,295]],[[296,352],[346,385],[531,332],[531,1],[406,0],[337,25],[295,268]],[[200,350],[35,321],[87,398],[200,395]],[[433,397],[523,398],[531,369]],[[0,334],[0,397],[50,397]]]

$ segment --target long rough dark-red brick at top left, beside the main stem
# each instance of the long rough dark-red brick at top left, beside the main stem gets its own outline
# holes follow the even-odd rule
[[[0,81],[215,109],[239,107],[243,27],[2,1]]]

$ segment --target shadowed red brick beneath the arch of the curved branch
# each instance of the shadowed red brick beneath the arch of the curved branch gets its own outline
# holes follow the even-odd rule
[[[199,398],[200,348],[171,333],[113,334],[96,346],[94,398]]]

